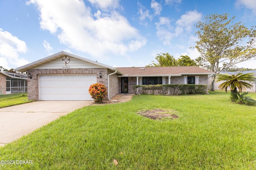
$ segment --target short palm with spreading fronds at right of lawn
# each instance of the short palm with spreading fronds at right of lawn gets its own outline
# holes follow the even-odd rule
[[[239,92],[242,92],[242,90],[246,90],[246,88],[252,88],[252,84],[245,82],[245,81],[249,81],[249,82],[253,82],[255,81],[256,77],[254,76],[254,73],[238,73],[236,75],[232,74],[218,74],[216,76],[216,82],[222,81],[224,80],[225,82],[223,82],[222,84],[220,84],[218,86],[218,88],[220,88],[221,90],[225,89],[225,91],[227,92],[228,87],[231,90],[231,99],[232,100],[236,100],[238,99],[238,95],[237,95],[237,88],[239,90]]]

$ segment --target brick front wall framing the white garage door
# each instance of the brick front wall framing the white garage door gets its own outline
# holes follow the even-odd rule
[[[99,73],[101,72],[102,78]],[[32,79],[28,78],[28,100],[39,100],[39,74],[96,74],[97,82],[102,83],[108,88],[108,69],[107,68],[77,68],[77,69],[31,69],[28,70]]]

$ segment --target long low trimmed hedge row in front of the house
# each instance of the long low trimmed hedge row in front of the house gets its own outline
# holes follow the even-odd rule
[[[206,94],[208,87],[202,84],[157,84],[157,85],[134,85],[134,94]]]

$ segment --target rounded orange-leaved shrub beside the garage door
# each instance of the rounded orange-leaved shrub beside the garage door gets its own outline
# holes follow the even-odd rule
[[[108,94],[106,86],[101,83],[92,84],[88,91],[96,103],[102,103],[102,100]]]

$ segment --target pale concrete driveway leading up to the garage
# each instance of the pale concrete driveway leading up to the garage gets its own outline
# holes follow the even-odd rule
[[[0,146],[93,101],[38,101],[0,108]]]

